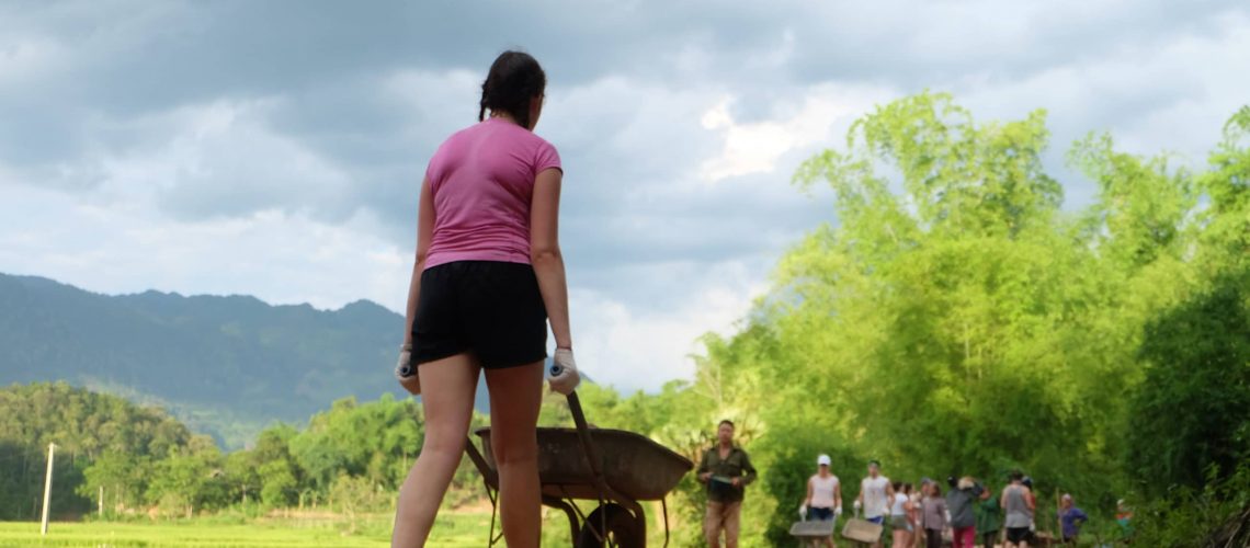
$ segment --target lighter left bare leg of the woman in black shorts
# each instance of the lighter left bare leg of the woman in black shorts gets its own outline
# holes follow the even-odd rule
[[[442,496],[465,452],[478,369],[469,355],[422,363],[416,369],[425,408],[425,443],[399,491],[392,548],[424,547],[430,536]]]

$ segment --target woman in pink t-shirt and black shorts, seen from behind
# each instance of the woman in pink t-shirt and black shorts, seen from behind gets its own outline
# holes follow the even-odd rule
[[[558,218],[562,169],[534,134],[546,75],[505,51],[481,86],[479,122],[449,137],[421,183],[408,328],[396,374],[421,394],[425,442],[400,488],[392,547],[425,546],[464,454],[479,373],[490,392],[504,539],[539,546],[536,424],[548,322],[562,374],[578,383]]]

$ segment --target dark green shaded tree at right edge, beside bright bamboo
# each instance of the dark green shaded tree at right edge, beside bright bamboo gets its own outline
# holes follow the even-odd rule
[[[1248,281],[1222,277],[1146,327],[1126,454],[1142,492],[1201,488],[1250,457]]]

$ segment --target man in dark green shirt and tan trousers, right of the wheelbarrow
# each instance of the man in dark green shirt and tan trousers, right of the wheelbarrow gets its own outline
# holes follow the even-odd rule
[[[708,546],[720,548],[724,532],[725,547],[738,548],[742,492],[755,481],[755,467],[746,452],[734,444],[732,422],[721,421],[716,428],[716,446],[704,453],[699,481],[708,486],[708,514],[704,517]]]

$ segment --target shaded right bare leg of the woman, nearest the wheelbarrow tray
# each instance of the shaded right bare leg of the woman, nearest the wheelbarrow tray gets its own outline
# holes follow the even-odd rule
[[[542,529],[536,432],[542,403],[542,362],[486,369],[486,387],[504,539],[511,548],[536,548]]]

